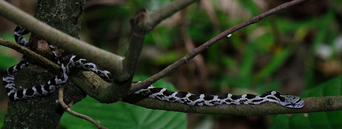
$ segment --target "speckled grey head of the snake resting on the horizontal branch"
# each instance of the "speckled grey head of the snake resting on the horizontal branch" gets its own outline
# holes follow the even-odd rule
[[[292,96],[292,95],[280,95],[282,98],[285,100],[280,102],[282,106],[286,106],[289,108],[294,108],[294,109],[301,109],[302,107],[305,106],[304,100],[298,96]]]

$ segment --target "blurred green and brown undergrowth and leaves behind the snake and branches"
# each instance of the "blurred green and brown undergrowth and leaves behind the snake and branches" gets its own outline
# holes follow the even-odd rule
[[[218,33],[276,7],[285,0],[199,1],[163,20],[146,35],[135,81],[156,74]],[[36,1],[11,1],[34,14]],[[89,0],[83,13],[81,40],[124,55],[129,18],[137,10],[155,10],[170,0]],[[277,90],[301,97],[342,94],[342,0],[307,1],[282,10],[214,44],[176,69],[157,86],[194,94],[263,94]],[[13,39],[16,27],[0,17],[0,38]],[[29,38],[29,35],[26,36]],[[21,54],[0,46],[0,72]],[[168,82],[168,83],[167,83]],[[0,87],[0,126],[7,109]],[[71,107],[108,128],[338,128],[342,112],[239,117],[155,111],[90,97]],[[95,128],[64,114],[60,128]]]

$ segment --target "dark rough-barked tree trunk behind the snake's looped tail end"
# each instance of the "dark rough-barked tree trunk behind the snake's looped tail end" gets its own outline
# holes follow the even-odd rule
[[[39,0],[35,17],[64,33],[79,38],[81,15],[85,3],[85,0]],[[51,50],[47,43],[34,34],[31,35],[30,45],[36,53],[44,55],[48,59],[51,58]],[[57,55],[64,57],[66,53],[57,49]],[[33,85],[46,83],[52,77],[53,73],[47,72],[44,68],[40,68],[40,66],[36,66],[36,63],[31,62],[28,68],[18,72],[15,81],[18,88],[20,86],[29,88]],[[85,94],[72,83],[66,85],[68,87],[64,93],[66,104],[75,104],[85,97]],[[44,98],[9,101],[3,128],[57,128],[64,110],[56,100],[57,91]]]

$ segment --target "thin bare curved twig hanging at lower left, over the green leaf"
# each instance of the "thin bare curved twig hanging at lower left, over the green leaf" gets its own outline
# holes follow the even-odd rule
[[[96,122],[94,119],[92,119],[91,117],[88,117],[87,115],[83,115],[81,113],[77,113],[75,111],[72,111],[68,105],[66,105],[64,103],[64,88],[65,85],[63,85],[62,87],[60,87],[59,91],[58,91],[58,102],[60,102],[61,106],[63,107],[64,111],[66,111],[67,113],[69,113],[70,115],[74,115],[75,117],[79,117],[81,119],[86,119],[86,121],[90,121],[90,123],[94,124],[97,128],[106,128],[105,126],[102,126],[101,124],[99,124],[98,122]]]

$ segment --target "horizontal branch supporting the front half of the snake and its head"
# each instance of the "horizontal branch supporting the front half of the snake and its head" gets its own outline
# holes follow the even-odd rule
[[[259,105],[219,105],[219,106],[189,106],[186,104],[165,102],[151,98],[143,98],[139,95],[129,95],[124,102],[129,102],[147,109],[159,109],[166,111],[179,111],[183,113],[205,113],[220,115],[272,115],[288,113],[312,113],[320,111],[342,110],[342,96],[328,96],[317,98],[304,98],[305,106],[302,109],[290,109],[273,102]]]

